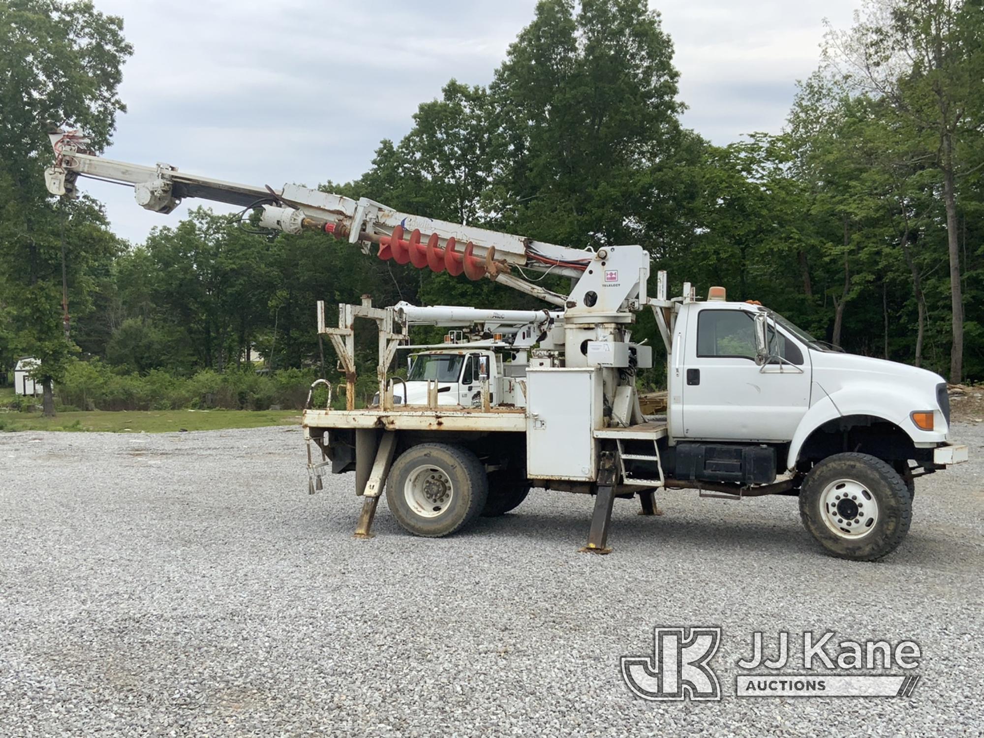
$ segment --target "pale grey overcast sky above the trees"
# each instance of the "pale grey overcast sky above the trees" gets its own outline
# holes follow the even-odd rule
[[[248,184],[314,186],[369,166],[399,141],[418,103],[452,77],[485,85],[535,0],[95,0],[124,19],[134,55],[105,155]],[[715,144],[777,132],[795,82],[817,66],[823,21],[860,0],[662,0],[676,49],[684,123]],[[117,233],[142,241],[174,214],[132,190],[86,180]],[[215,206],[216,211],[224,211]]]

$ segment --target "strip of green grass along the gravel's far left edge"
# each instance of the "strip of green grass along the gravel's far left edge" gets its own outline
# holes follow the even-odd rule
[[[0,430],[4,431],[168,433],[299,423],[300,413],[297,410],[90,410],[59,412],[52,418],[46,418],[39,412],[0,412]]]

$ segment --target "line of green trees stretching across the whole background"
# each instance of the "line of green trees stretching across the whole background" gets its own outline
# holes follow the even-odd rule
[[[108,144],[132,51],[122,20],[4,0],[0,33],[0,365],[36,356],[46,386],[93,357],[120,375],[252,372],[258,358],[334,377],[318,299],[535,305],[206,208],[121,241],[92,199],[47,196],[41,121]],[[782,132],[727,146],[682,125],[672,57],[645,0],[541,0],[491,84],[451,80],[363,176],[323,188],[570,246],[642,244],[675,289],[719,284],[845,350],[984,377],[981,3],[869,2],[829,29]],[[645,314],[637,336],[659,344]]]

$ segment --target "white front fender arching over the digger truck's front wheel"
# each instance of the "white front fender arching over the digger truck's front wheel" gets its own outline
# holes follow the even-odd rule
[[[912,439],[917,447],[933,447],[948,440],[949,428],[943,413],[936,406],[936,399],[914,398],[909,392],[874,383],[854,384],[830,395],[818,383],[813,384],[815,396],[821,396],[807,410],[793,433],[789,444],[786,468],[792,470],[799,460],[803,444],[824,423],[847,415],[869,415],[894,423]],[[938,430],[924,431],[916,427],[909,413],[912,410],[935,409],[935,426]]]

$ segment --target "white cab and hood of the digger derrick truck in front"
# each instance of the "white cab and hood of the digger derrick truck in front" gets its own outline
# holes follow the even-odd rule
[[[778,473],[830,451],[831,434],[931,467],[951,440],[943,377],[844,353],[757,304],[681,305],[668,370],[673,441],[771,445]]]

